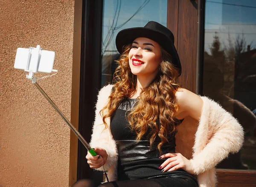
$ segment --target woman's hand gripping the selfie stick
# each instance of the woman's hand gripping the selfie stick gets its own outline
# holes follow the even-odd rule
[[[85,158],[87,159],[87,163],[89,164],[90,168],[97,169],[99,167],[102,167],[105,164],[108,158],[108,155],[106,150],[103,148],[95,147],[93,149],[97,155],[92,156],[90,152],[87,152],[87,155]]]

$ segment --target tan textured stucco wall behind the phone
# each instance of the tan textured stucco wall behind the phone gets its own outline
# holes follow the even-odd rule
[[[74,0],[0,0],[0,187],[68,186],[70,129],[13,65],[18,47],[55,51],[38,84],[70,118],[73,19]]]

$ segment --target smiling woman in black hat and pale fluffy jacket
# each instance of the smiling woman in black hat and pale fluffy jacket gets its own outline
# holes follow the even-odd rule
[[[180,60],[166,27],[151,21],[124,29],[116,47],[116,83],[101,89],[96,104],[90,144],[97,156],[86,156],[111,182],[80,180],[73,187],[215,186],[215,165],[242,146],[241,125],[214,101],[180,88]],[[190,160],[175,153],[184,118],[198,121]]]

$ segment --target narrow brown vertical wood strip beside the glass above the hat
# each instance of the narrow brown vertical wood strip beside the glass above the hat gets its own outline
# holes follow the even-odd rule
[[[168,0],[167,3],[167,28],[172,31],[175,41],[174,45],[177,49],[177,35],[178,35],[178,0]]]

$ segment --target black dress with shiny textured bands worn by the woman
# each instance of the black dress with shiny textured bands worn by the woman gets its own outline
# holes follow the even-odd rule
[[[139,142],[135,140],[136,134],[129,128],[127,116],[136,102],[137,99],[126,99],[119,104],[115,114],[111,117],[111,133],[118,150],[118,180],[176,177],[185,178],[191,184],[197,185],[195,177],[184,170],[161,172],[159,167],[166,159],[159,158],[158,141],[155,141],[150,148],[146,138]],[[177,120],[177,125],[179,123],[181,121]],[[175,133],[169,135],[168,140],[169,142],[161,147],[163,154],[175,152]]]

